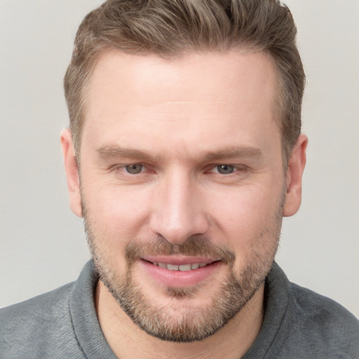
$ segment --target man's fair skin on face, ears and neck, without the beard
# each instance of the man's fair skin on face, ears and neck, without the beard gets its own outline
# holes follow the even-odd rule
[[[299,137],[283,172],[276,83],[273,64],[261,52],[163,60],[108,51],[88,84],[81,181],[71,133],[62,131],[71,208],[79,217],[86,208],[90,241],[109,282],[116,285],[129,272],[131,243],[164,238],[180,248],[196,237],[233,253],[233,266],[219,260],[198,283],[179,280],[177,288],[192,292],[184,298],[170,297],[168,285],[134,259],[133,283],[170,325],[189,311],[206,313],[229,273],[241,280],[250,267],[252,277],[263,280],[282,217],[299,209],[307,139]],[[141,166],[135,175],[126,171],[134,163]],[[218,165],[233,172],[222,174]],[[191,257],[171,256],[179,262]],[[263,285],[255,287],[222,329],[191,343],[161,341],[141,330],[102,281],[96,307],[119,358],[240,358],[262,325],[263,293]]]

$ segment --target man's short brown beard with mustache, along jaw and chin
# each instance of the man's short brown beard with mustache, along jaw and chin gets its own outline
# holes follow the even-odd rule
[[[109,254],[104,253],[104,238],[93,231],[93,226],[83,201],[83,219],[88,245],[100,280],[111,292],[121,309],[133,323],[147,334],[165,341],[191,342],[200,341],[215,334],[229,322],[259,290],[273,265],[282,223],[283,202],[276,212],[271,229],[259,233],[256,248],[248,259],[248,264],[241,273],[234,268],[235,255],[229,248],[214,245],[210,238],[192,236],[182,245],[172,245],[161,236],[155,238],[135,238],[126,246],[126,273],[117,273],[111,268]],[[269,244],[271,243],[271,244]],[[210,305],[191,306],[191,297],[196,295],[196,288],[167,287],[165,294],[170,299],[166,305],[151,302],[142,287],[135,282],[133,266],[135,259],[150,255],[198,255],[208,258],[220,257],[228,266],[226,279],[219,290],[212,293]],[[209,295],[211,293],[208,293]]]

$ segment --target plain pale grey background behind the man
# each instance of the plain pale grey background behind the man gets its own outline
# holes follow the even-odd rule
[[[100,0],[0,0],[0,307],[52,290],[89,258],[69,210],[62,77],[76,29]],[[299,213],[278,263],[359,317],[359,1],[287,0],[308,79]]]

